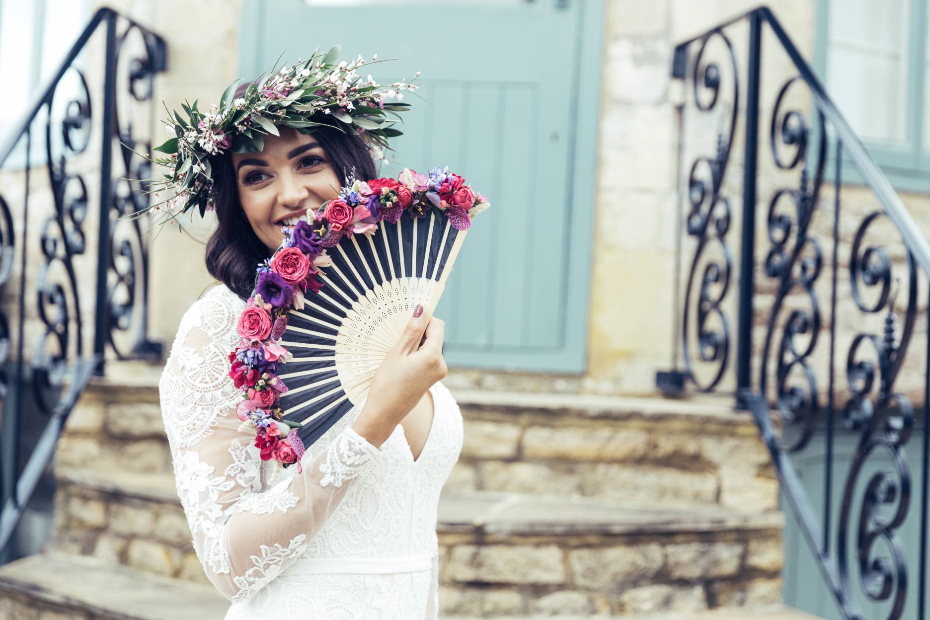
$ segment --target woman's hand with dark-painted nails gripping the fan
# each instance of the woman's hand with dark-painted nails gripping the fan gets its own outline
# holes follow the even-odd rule
[[[404,334],[371,378],[365,407],[352,425],[376,447],[391,437],[432,384],[448,372],[443,359],[445,322],[428,317],[422,306],[418,309],[419,316],[415,310]]]

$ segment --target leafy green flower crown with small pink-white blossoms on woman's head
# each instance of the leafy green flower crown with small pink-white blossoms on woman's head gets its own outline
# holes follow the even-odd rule
[[[197,109],[199,99],[193,105],[186,100],[181,105],[186,117],[177,111],[168,112],[164,123],[173,137],[153,149],[166,156],[143,157],[171,168],[171,173],[142,182],[150,188],[146,193],[154,193],[156,200],[160,191],[173,190],[173,195],[132,215],[138,217],[150,209],[166,212],[167,217],[159,222],[165,223],[196,207],[203,217],[214,208],[210,158],[226,151],[261,151],[264,135],[280,135],[277,126],[300,133],[310,133],[314,126],[352,131],[365,140],[376,160],[387,161],[384,150],[390,149],[388,139],[403,133],[392,126],[397,121],[387,116],[400,119],[397,112],[410,107],[399,102],[404,99],[403,91],[413,92],[419,86],[402,80],[382,88],[371,75],[363,80],[355,72],[365,59],[359,56],[352,62],[342,60],[336,64],[339,49],[334,46],[323,54],[317,48],[310,59],[262,73],[242,97],[234,99],[236,88],[244,82],[241,78],[235,80],[223,92],[219,106],[213,104],[211,112]],[[379,62],[377,59],[376,54],[372,63]],[[419,72],[413,79],[417,77]],[[395,98],[398,101],[388,102]]]

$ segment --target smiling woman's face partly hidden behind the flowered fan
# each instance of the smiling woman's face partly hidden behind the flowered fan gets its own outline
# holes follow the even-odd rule
[[[284,240],[281,227],[293,225],[308,208],[339,194],[339,177],[312,134],[278,127],[264,136],[260,152],[233,152],[239,202],[252,230],[269,253]]]

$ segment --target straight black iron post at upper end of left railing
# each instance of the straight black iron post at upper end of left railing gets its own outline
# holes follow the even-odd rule
[[[107,44],[103,79],[103,120],[100,152],[100,229],[97,242],[97,305],[94,331],[94,354],[97,376],[103,375],[103,351],[110,330],[110,305],[107,303],[107,270],[110,265],[110,211],[113,202],[113,124],[116,105],[116,15],[107,16]]]

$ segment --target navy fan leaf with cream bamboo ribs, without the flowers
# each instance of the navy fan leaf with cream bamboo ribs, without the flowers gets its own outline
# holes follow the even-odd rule
[[[436,209],[423,218],[405,211],[372,236],[344,236],[329,248],[323,288],[287,313],[280,340],[294,356],[278,368],[288,388],[281,408],[285,420],[306,423],[304,445],[365,400],[417,304],[432,315],[466,232]]]

